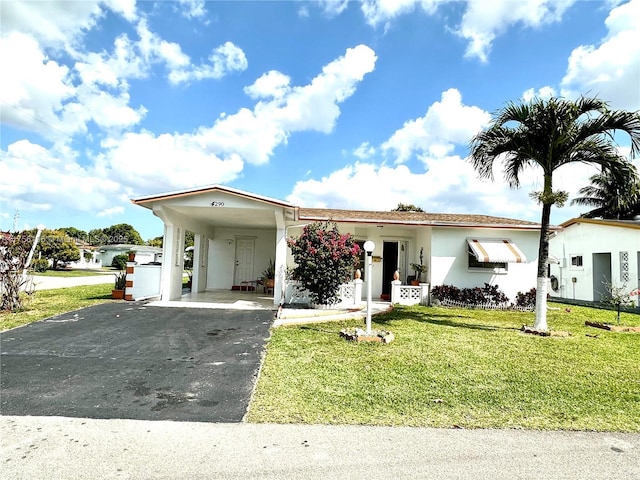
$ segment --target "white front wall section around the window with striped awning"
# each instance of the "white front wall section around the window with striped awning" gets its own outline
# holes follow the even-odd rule
[[[524,253],[527,262],[509,263],[506,273],[469,269],[467,238],[511,240]],[[536,286],[539,240],[538,230],[434,227],[431,238],[431,286],[473,288],[488,283],[498,285],[513,300],[518,292],[528,292]]]

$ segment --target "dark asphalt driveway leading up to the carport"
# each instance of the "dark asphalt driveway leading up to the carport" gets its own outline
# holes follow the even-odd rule
[[[0,414],[239,422],[273,312],[96,305],[0,335]]]

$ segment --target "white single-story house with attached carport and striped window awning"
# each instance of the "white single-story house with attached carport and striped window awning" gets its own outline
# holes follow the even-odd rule
[[[539,225],[485,215],[372,212],[301,208],[281,200],[222,186],[208,186],[132,202],[164,222],[163,300],[182,295],[185,231],[194,233],[192,291],[231,289],[258,279],[275,260],[274,304],[285,291],[291,266],[286,239],[304,225],[335,221],[356,241],[375,242],[372,293],[386,296],[396,270],[406,281],[411,263],[427,271],[422,281],[458,287],[497,284],[510,298],[535,286]],[[364,255],[363,255],[364,259]],[[365,273],[364,265],[362,267]],[[363,275],[363,280],[369,279]]]

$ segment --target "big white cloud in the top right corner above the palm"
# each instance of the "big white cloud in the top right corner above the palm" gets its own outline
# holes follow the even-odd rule
[[[613,8],[600,45],[582,45],[569,57],[561,85],[566,96],[598,96],[613,108],[640,110],[640,0]]]

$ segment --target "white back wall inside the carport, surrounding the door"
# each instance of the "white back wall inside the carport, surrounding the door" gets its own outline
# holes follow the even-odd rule
[[[214,238],[209,240],[211,259],[207,269],[207,289],[230,289],[235,271],[236,241],[238,238],[252,238],[255,241],[253,275],[257,280],[267,268],[269,259],[275,261],[276,230],[216,228]]]

